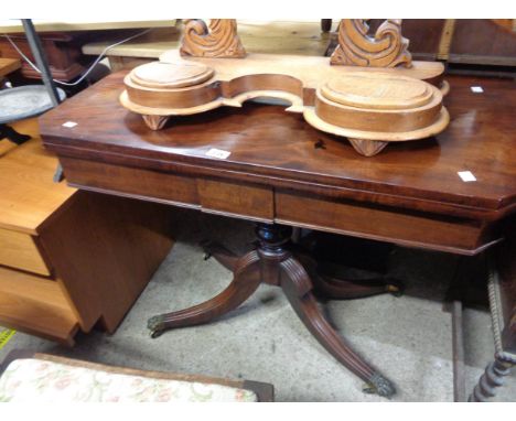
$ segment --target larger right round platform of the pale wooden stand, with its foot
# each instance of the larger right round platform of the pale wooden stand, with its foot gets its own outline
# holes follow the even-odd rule
[[[442,94],[422,80],[391,74],[353,73],[330,80],[305,107],[305,120],[319,130],[343,136],[372,156],[388,142],[438,134],[450,116]]]

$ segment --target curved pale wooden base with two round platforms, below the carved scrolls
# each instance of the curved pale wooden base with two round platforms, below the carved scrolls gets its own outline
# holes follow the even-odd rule
[[[324,61],[270,55],[186,60],[165,53],[160,62],[136,67],[126,76],[120,101],[159,130],[168,117],[241,107],[256,97],[279,98],[291,104],[287,111],[302,114],[321,131],[348,138],[365,156],[379,153],[387,142],[428,138],[447,127],[449,116],[437,87],[442,65],[415,63],[411,68],[358,72]]]

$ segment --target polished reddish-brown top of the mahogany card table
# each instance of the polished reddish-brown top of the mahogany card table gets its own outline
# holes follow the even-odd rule
[[[214,110],[173,119],[161,131],[118,102],[123,73],[68,99],[41,121],[46,143],[204,164],[307,183],[356,188],[473,207],[516,204],[516,84],[512,80],[448,77],[450,127],[437,138],[390,144],[373,158],[358,155],[338,138],[320,132],[279,106]],[[481,85],[483,94],[471,86]],[[61,123],[73,120],[73,129]],[[322,141],[322,148],[314,145]],[[228,159],[206,156],[211,148]],[[476,182],[463,182],[471,171]]]

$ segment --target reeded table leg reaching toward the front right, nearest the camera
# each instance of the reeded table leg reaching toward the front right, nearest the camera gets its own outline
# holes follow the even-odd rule
[[[365,391],[391,397],[396,390],[389,380],[367,365],[330,325],[318,307],[312,282],[304,268],[293,258],[281,263],[281,288],[307,328],[347,369],[367,384]]]

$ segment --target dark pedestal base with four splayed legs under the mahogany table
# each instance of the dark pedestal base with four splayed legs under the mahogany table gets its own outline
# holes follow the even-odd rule
[[[358,356],[335,332],[318,306],[314,291],[329,298],[352,299],[378,293],[398,293],[399,285],[383,279],[363,282],[342,280],[318,273],[316,262],[304,253],[297,255],[287,247],[291,228],[259,224],[258,249],[238,257],[216,244],[205,245],[205,251],[233,271],[233,281],[218,295],[193,307],[151,317],[148,327],[152,337],[174,327],[207,323],[235,310],[259,287],[268,283],[282,289],[293,310],[310,333],[347,369],[366,382],[367,392],[390,397],[395,388],[378,371]],[[313,281],[313,282],[312,282]]]

